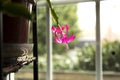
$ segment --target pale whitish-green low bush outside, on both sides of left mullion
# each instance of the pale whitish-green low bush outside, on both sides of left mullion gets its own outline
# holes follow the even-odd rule
[[[39,68],[41,70],[47,69],[46,60],[47,60],[46,54],[39,56]],[[72,56],[69,56],[67,54],[65,55],[54,54],[53,55],[53,69],[54,70],[74,70],[77,66],[76,61],[72,59]]]

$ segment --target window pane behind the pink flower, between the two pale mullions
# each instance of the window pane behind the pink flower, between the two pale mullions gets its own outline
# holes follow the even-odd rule
[[[74,34],[76,39],[69,50],[53,39],[54,79],[95,80],[95,3],[59,5],[55,10],[60,25],[68,24],[69,36]]]

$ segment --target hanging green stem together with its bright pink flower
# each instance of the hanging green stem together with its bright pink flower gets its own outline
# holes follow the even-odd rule
[[[57,16],[56,12],[54,11],[50,0],[47,0],[47,3],[50,7],[52,17],[54,18],[54,20],[57,24],[57,26],[56,26],[57,28],[52,26],[52,31],[54,33],[54,40],[55,40],[55,42],[57,42],[59,44],[65,44],[66,48],[68,49],[68,43],[73,41],[75,39],[75,36],[72,35],[72,36],[68,37],[68,29],[69,29],[68,25],[60,26],[59,21],[58,21],[58,16]]]

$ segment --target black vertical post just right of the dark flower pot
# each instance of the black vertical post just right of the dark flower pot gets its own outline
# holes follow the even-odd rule
[[[38,41],[37,41],[37,5],[33,6],[34,20],[33,20],[33,56],[36,57],[34,64],[34,80],[38,80]]]

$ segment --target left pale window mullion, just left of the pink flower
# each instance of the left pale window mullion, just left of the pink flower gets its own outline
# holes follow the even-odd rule
[[[52,79],[52,20],[50,16],[50,9],[46,6],[46,20],[47,20],[47,27],[46,27],[46,43],[47,43],[47,80]]]

